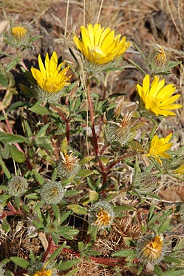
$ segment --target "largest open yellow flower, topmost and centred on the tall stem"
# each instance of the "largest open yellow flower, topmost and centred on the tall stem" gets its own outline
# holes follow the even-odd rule
[[[95,23],[89,24],[87,28],[80,27],[81,39],[74,34],[73,41],[84,57],[95,64],[104,64],[120,57],[129,48],[131,43],[121,34],[114,36],[111,28],[101,28]]]

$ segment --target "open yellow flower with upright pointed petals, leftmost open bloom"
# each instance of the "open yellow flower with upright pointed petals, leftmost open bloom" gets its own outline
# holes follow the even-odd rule
[[[56,93],[61,91],[64,86],[70,84],[70,77],[66,77],[66,72],[69,66],[61,70],[64,62],[57,66],[57,54],[54,51],[52,57],[49,59],[48,52],[46,53],[45,66],[42,62],[41,56],[38,57],[39,70],[31,68],[33,77],[36,79],[38,85],[47,93]],[[60,71],[61,70],[61,71]]]

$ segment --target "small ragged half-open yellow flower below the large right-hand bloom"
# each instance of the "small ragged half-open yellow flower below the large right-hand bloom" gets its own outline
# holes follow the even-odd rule
[[[168,143],[171,137],[172,133],[165,138],[158,138],[158,135],[154,135],[154,138],[151,140],[151,146],[149,148],[147,156],[155,157],[156,160],[162,165],[163,162],[160,160],[159,157],[164,157],[167,159],[170,158],[170,155],[165,152],[169,150],[172,146],[172,143]]]

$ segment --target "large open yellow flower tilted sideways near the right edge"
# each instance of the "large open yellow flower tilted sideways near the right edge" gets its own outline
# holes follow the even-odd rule
[[[174,104],[174,101],[181,97],[181,95],[172,96],[176,87],[173,87],[173,84],[168,84],[164,87],[164,84],[165,79],[159,81],[159,77],[156,76],[150,87],[149,75],[146,75],[143,79],[142,86],[137,85],[138,94],[145,108],[154,112],[156,116],[176,115],[170,110],[182,107],[181,104]]]

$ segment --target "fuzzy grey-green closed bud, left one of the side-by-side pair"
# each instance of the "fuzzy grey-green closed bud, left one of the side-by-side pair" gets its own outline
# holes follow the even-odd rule
[[[9,195],[14,195],[15,197],[24,195],[28,189],[28,181],[21,176],[12,177],[8,181],[8,193]]]

